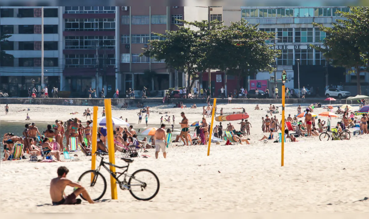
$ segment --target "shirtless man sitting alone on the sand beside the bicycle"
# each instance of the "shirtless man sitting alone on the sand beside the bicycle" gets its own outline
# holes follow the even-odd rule
[[[76,199],[79,194],[82,194],[84,198],[91,204],[94,202],[90,195],[87,193],[86,189],[79,183],[75,183],[66,178],[69,170],[65,166],[58,168],[58,177],[51,180],[50,183],[50,197],[52,200],[52,205],[74,205],[80,204],[81,199]],[[73,191],[72,194],[65,197],[65,187],[77,187],[77,190]]]

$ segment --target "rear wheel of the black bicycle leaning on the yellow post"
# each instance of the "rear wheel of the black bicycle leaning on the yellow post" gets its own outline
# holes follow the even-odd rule
[[[148,201],[159,192],[159,179],[151,170],[141,169],[128,180],[131,195],[138,200]]]

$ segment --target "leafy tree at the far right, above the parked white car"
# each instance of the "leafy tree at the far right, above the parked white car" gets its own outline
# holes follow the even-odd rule
[[[338,13],[344,19],[337,19],[332,27],[313,23],[314,27],[319,27],[327,35],[323,42],[324,48],[313,47],[322,52],[333,66],[344,67],[349,73],[355,72],[357,93],[361,94],[360,69],[368,68],[369,45],[365,40],[368,40],[369,34],[369,10],[368,7],[350,7],[350,12]]]

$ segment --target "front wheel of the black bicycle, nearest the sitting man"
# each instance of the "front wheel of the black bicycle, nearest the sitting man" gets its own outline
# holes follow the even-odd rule
[[[93,176],[93,181],[91,183],[91,176]],[[96,172],[95,170],[88,170],[78,179],[78,183],[80,183],[83,187],[85,187],[86,191],[90,195],[91,199],[97,201],[101,199],[106,192],[106,180],[103,174],[100,172]],[[86,200],[82,194],[80,194],[83,200]]]

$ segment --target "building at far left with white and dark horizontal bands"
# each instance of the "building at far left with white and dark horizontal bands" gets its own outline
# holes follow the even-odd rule
[[[41,88],[41,7],[0,7],[0,33],[11,35],[1,50],[14,59],[0,63],[0,89],[10,96],[28,96]],[[44,83],[59,87],[62,76],[60,7],[44,7]]]

